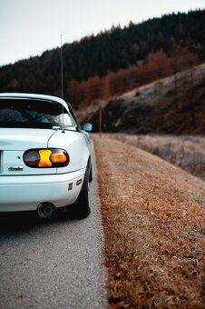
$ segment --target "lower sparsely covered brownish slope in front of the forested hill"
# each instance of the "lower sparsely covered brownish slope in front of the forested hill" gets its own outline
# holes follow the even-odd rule
[[[89,111],[99,130],[99,105]],[[113,96],[102,109],[102,132],[204,134],[205,64]]]

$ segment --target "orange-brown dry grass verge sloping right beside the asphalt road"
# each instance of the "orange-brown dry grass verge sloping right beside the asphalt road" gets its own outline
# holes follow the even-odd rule
[[[202,308],[205,184],[93,135],[112,308]]]

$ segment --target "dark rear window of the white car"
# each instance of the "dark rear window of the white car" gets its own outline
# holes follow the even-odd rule
[[[63,105],[39,99],[0,98],[1,127],[75,126]]]

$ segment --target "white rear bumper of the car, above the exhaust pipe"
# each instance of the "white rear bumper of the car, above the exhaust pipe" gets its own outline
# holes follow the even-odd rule
[[[0,176],[0,212],[36,210],[44,202],[54,207],[73,204],[84,173],[85,169],[67,174]],[[76,184],[79,179],[82,184]]]

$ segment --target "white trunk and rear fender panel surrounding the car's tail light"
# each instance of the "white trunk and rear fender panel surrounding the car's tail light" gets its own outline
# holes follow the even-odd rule
[[[11,131],[13,129],[7,130]],[[88,145],[89,143],[83,133],[79,132],[23,128],[15,129],[15,133],[9,134],[5,128],[0,128],[0,152],[2,157],[0,183],[1,176],[5,174],[60,174],[85,168],[90,154]],[[70,164],[58,169],[30,168],[24,164],[23,155],[25,150],[47,147],[66,150],[70,157]],[[10,167],[22,167],[23,169],[9,171]]]

